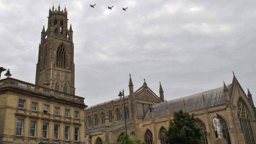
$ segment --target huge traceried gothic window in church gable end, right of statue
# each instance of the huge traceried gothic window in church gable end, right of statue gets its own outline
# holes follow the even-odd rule
[[[246,144],[254,144],[249,114],[241,98],[238,100],[237,103],[237,115],[243,130]]]

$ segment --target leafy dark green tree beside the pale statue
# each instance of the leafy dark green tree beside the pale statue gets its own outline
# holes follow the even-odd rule
[[[194,114],[189,115],[179,110],[173,114],[173,120],[166,131],[166,143],[198,144],[202,135],[202,131],[196,125]]]

